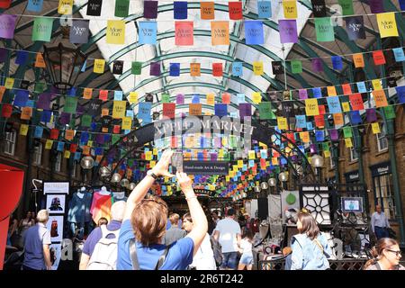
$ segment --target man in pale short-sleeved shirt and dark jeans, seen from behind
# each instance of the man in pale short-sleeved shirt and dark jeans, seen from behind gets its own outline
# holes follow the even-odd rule
[[[235,270],[238,267],[238,247],[240,247],[241,231],[235,220],[235,210],[229,208],[225,219],[218,221],[213,237],[220,242],[223,260],[221,269]]]

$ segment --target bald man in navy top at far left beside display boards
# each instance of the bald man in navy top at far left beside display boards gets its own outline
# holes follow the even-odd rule
[[[23,270],[50,270],[50,233],[46,225],[49,212],[40,210],[37,224],[27,229],[24,238]]]

